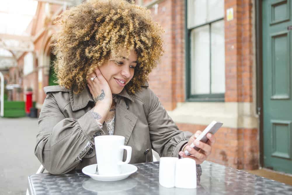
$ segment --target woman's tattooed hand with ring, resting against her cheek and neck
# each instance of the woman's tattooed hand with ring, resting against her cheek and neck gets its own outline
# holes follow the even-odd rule
[[[91,80],[91,78],[94,78]],[[90,74],[87,79],[87,86],[95,101],[95,106],[105,106],[109,110],[112,105],[112,92],[105,77],[100,72],[99,68],[96,68],[93,73]]]

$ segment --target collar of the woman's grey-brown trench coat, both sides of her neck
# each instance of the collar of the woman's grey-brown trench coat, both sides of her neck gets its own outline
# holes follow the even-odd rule
[[[117,95],[130,99],[131,101],[134,102],[134,97],[130,96],[125,88],[121,91],[121,93]],[[88,87],[85,87],[78,94],[75,94],[73,92],[73,88],[70,88],[69,96],[70,96],[72,111],[77,111],[82,108],[85,108],[89,101],[94,101]]]

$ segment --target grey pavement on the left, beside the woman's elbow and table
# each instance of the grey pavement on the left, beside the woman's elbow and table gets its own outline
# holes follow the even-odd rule
[[[0,117],[0,194],[25,194],[27,177],[41,165],[34,156],[37,118]]]

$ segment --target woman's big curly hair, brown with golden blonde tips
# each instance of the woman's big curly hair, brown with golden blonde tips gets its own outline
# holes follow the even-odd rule
[[[60,31],[53,35],[57,82],[74,93],[86,86],[88,76],[121,49],[138,54],[138,64],[125,86],[134,94],[164,53],[162,30],[150,11],[128,0],[89,0],[64,11],[55,23]]]

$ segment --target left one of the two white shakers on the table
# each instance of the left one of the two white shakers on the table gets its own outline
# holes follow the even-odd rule
[[[159,184],[171,188],[175,186],[176,157],[161,157],[159,162]]]

